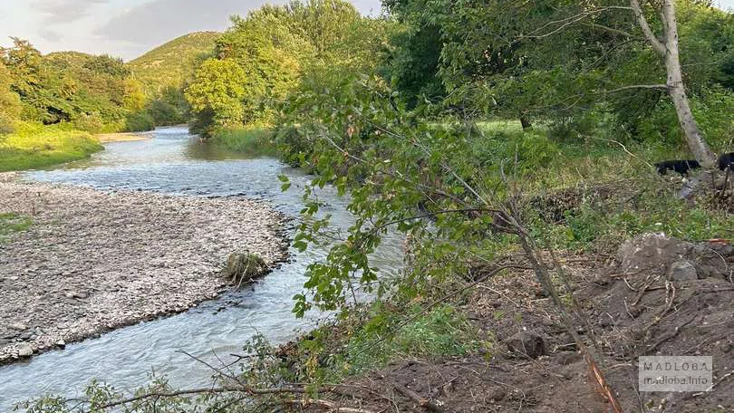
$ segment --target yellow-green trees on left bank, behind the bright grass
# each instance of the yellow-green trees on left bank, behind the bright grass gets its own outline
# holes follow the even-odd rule
[[[5,87],[20,100],[20,111],[5,118],[45,125],[72,123],[92,132],[150,129],[141,112],[147,97],[121,59],[109,55],[51,53],[43,56],[27,41],[14,38],[0,50]],[[4,95],[4,100],[8,99]],[[5,105],[3,105],[5,107]],[[9,104],[7,108],[17,108]]]

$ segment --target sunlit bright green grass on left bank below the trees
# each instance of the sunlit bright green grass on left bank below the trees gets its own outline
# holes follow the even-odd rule
[[[89,158],[102,149],[87,132],[25,123],[14,133],[0,136],[0,172],[45,168]]]

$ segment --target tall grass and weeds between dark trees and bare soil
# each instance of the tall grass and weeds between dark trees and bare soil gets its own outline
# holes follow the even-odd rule
[[[665,232],[689,241],[731,238],[734,216],[725,205],[699,196],[697,202],[679,197],[682,178],[660,177],[652,164],[690,158],[685,146],[651,144],[613,136],[609,130],[559,136],[543,125],[523,131],[519,122],[483,122],[471,141],[471,156],[488,176],[489,186],[504,161],[518,175],[528,199],[552,207],[561,220],[531,219],[530,226],[546,234],[559,248],[607,250],[646,232]]]

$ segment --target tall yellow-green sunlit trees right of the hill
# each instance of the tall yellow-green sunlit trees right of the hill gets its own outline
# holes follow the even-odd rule
[[[205,133],[237,122],[272,123],[279,106],[299,92],[304,78],[373,70],[390,30],[387,22],[362,17],[343,0],[265,5],[246,17],[234,16],[232,26],[217,39],[213,59],[237,62],[244,72],[244,94],[238,96],[241,112],[230,105],[200,104],[192,91],[208,90],[211,86],[205,83],[218,81],[197,75],[187,92],[198,112],[195,123]]]

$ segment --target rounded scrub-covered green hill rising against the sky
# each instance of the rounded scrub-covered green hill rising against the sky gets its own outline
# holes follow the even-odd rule
[[[128,68],[149,91],[169,85],[178,87],[196,66],[194,61],[212,50],[217,37],[217,32],[183,35],[130,61]]]

